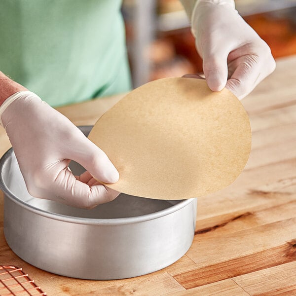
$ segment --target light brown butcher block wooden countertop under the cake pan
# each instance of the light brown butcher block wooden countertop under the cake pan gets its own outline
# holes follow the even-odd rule
[[[59,108],[76,125],[91,125],[122,96]],[[296,56],[242,101],[252,125],[245,170],[224,190],[198,198],[194,241],[176,263],[137,278],[77,280],[18,258],[3,235],[0,264],[23,267],[49,296],[296,295]],[[0,154],[9,148],[0,130]]]

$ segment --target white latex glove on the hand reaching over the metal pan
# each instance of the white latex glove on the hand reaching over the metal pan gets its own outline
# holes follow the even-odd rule
[[[105,183],[118,180],[107,155],[36,94],[21,91],[9,97],[0,107],[0,119],[31,195],[92,208],[119,194],[91,176]],[[75,177],[70,159],[88,171]]]

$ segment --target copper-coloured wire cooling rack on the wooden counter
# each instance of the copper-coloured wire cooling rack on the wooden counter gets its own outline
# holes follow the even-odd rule
[[[46,295],[22,268],[0,265],[0,296]]]

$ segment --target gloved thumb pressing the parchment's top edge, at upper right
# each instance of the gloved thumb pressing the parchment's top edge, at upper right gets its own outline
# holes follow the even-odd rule
[[[203,72],[209,88],[213,91],[220,91],[226,85],[228,76],[227,56],[228,52],[225,50],[215,54],[212,54],[210,50],[204,50]]]

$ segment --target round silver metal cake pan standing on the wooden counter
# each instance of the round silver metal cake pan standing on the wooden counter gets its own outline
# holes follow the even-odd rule
[[[91,126],[79,127],[87,136]],[[78,175],[84,169],[71,163]],[[28,263],[59,275],[122,279],[162,269],[189,249],[196,198],[155,200],[121,193],[91,210],[29,194],[13,149],[0,159],[4,235]]]

